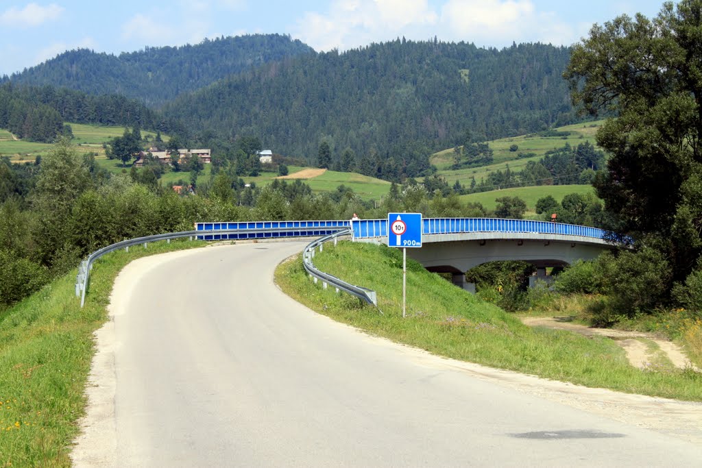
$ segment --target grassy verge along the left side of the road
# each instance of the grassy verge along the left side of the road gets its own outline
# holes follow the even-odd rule
[[[93,331],[107,320],[119,271],[145,255],[203,242],[150,243],[95,263],[86,305],[75,296],[76,271],[0,312],[0,467],[68,467],[94,352]]]

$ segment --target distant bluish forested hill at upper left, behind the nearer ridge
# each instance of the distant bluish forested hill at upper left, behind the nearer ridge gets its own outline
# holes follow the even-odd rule
[[[79,49],[13,74],[10,79],[91,95],[121,94],[158,107],[180,93],[244,69],[308,53],[314,50],[280,34],[206,39],[194,46],[148,47],[118,56]]]

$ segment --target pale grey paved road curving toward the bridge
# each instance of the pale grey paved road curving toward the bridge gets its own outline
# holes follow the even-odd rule
[[[77,467],[700,466],[699,446],[480,380],[274,286],[300,242],[128,265]],[[102,399],[100,399],[100,395]]]

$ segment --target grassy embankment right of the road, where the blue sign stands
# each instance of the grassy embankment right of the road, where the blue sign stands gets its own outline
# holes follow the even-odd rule
[[[409,262],[408,317],[402,318],[402,255],[398,249],[364,243],[331,244],[314,258],[322,271],[376,290],[383,312],[349,295],[310,281],[299,258],[276,272],[276,281],[296,300],[368,333],[427,349],[433,354],[515,370],[588,387],[702,401],[702,375],[651,372],[630,366],[625,353],[604,337],[529,328],[512,314],[482,302],[437,274]]]

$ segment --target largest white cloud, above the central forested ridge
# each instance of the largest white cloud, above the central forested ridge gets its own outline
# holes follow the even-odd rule
[[[307,12],[291,31],[317,51],[341,51],[399,36],[509,46],[512,41],[569,45],[583,29],[569,25],[534,0],[445,0],[435,11],[426,0],[335,0],[326,12]],[[585,31],[586,32],[586,31]]]

